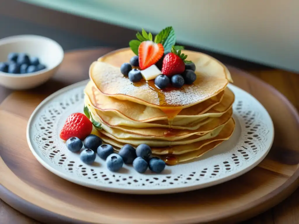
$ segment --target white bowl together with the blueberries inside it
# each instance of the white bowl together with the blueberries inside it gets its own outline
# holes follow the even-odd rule
[[[15,90],[37,87],[50,79],[64,57],[54,40],[17,35],[0,40],[0,85]]]

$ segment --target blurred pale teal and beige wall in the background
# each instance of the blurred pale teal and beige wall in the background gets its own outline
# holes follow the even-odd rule
[[[172,25],[183,44],[299,71],[298,0],[22,1],[137,30]]]

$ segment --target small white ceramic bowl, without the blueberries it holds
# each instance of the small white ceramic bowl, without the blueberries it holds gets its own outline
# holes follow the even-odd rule
[[[17,35],[1,39],[0,62],[7,62],[10,52],[36,56],[46,66],[46,69],[27,74],[0,71],[0,85],[15,90],[30,89],[47,82],[57,71],[64,56],[62,47],[56,41],[37,35]]]

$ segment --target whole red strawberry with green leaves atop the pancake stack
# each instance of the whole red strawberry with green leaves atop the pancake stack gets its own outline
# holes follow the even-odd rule
[[[191,61],[186,61],[187,55],[181,54],[181,50],[176,51],[172,47],[171,52],[165,55],[162,64],[162,73],[166,76],[173,76],[181,74],[185,70],[185,63],[189,64]]]

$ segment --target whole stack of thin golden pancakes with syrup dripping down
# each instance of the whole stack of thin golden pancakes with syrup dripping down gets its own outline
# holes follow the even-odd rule
[[[197,79],[180,89],[159,90],[153,80],[130,82],[120,73],[120,65],[134,56],[127,48],[91,64],[85,106],[101,123],[98,131],[104,142],[116,151],[144,143],[174,165],[200,157],[230,138],[235,122],[228,69],[206,54],[183,53],[195,63]]]

